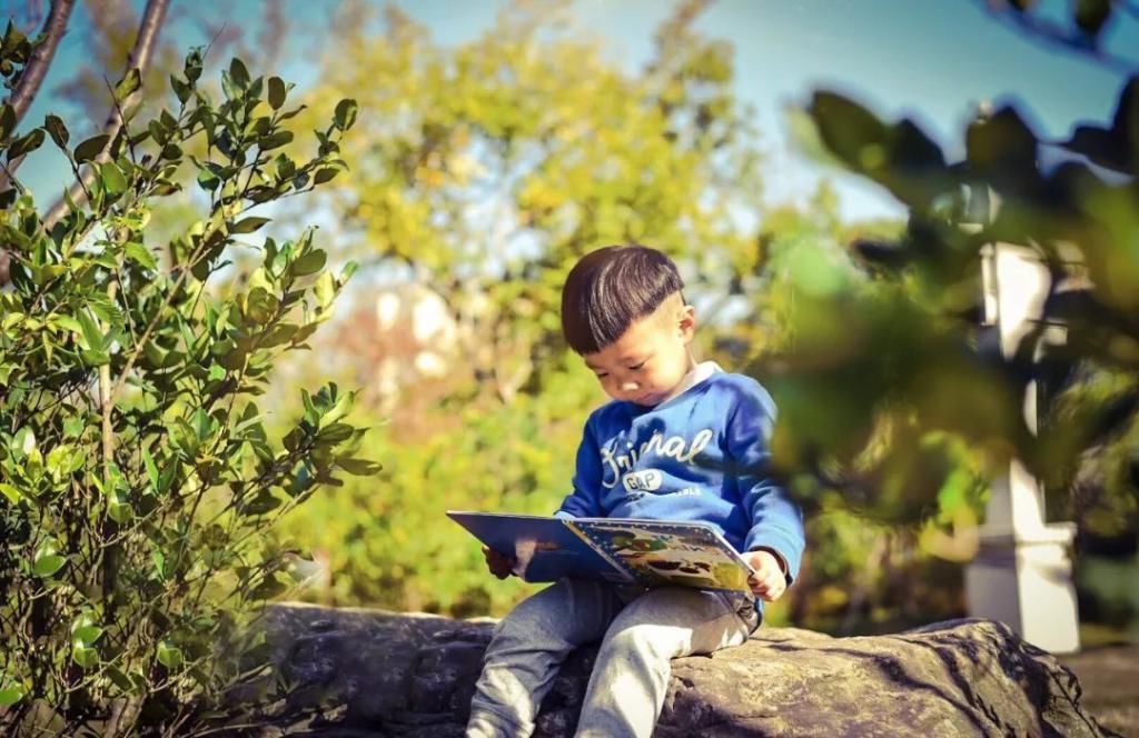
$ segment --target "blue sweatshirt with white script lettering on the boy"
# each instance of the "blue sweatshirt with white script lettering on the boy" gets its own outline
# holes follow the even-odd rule
[[[713,362],[679,390],[654,408],[613,401],[590,415],[573,492],[556,515],[711,523],[740,552],[778,552],[790,583],[803,556],[803,517],[767,475],[771,396]]]

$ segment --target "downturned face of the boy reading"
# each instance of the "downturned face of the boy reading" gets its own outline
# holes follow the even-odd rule
[[[633,321],[615,342],[591,354],[585,366],[614,400],[653,407],[672,394],[693,366],[688,345],[696,312],[672,295],[650,315]]]

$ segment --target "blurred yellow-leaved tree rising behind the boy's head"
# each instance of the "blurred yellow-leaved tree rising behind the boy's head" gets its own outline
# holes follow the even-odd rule
[[[731,49],[687,2],[639,73],[605,59],[565,3],[518,2],[454,49],[388,8],[349,3],[309,99],[354,90],[367,112],[357,172],[329,203],[353,256],[443,296],[461,353],[499,401],[536,391],[563,347],[565,271],[599,244],[659,244],[694,293],[754,268],[759,157],[731,92]],[[507,310],[508,309],[508,310]]]

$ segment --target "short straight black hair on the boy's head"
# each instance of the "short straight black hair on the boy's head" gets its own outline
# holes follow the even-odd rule
[[[562,333],[596,353],[685,286],[671,259],[647,246],[605,246],[582,256],[562,288]]]

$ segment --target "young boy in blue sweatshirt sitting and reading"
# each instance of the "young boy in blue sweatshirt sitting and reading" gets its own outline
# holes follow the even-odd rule
[[[563,331],[613,402],[585,423],[556,515],[712,523],[755,569],[752,593],[773,601],[804,546],[798,508],[765,475],[775,408],[754,379],[693,360],[682,286],[672,261],[642,246],[595,251],[570,272]],[[513,561],[483,552],[494,575],[510,573]],[[563,580],[494,630],[467,736],[528,736],[563,659],[597,640],[577,735],[649,736],[670,659],[743,643],[761,613],[743,593]]]

